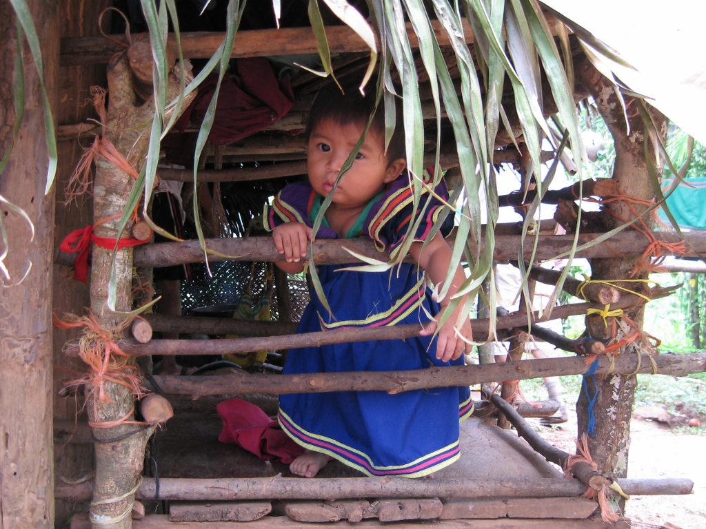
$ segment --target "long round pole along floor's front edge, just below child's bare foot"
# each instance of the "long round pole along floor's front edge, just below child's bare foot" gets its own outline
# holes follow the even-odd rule
[[[693,482],[684,478],[620,480],[626,494],[690,494]],[[578,480],[563,478],[161,478],[159,499],[223,501],[233,499],[348,498],[547,498],[575,497],[586,491]],[[60,485],[56,499],[91,498],[90,483]],[[155,499],[156,482],[145,478],[137,499]]]

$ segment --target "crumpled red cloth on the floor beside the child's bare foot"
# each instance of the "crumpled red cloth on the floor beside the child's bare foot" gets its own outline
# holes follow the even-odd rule
[[[285,465],[304,454],[304,448],[254,404],[234,397],[219,403],[216,411],[223,420],[218,436],[222,443],[235,443],[265,461],[281,458]]]

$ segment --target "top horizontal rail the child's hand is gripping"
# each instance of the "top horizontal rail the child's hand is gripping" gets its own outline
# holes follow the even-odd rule
[[[658,240],[676,243],[681,238],[676,233],[655,233]],[[706,233],[686,233],[686,238],[698,251],[706,251]],[[599,234],[583,233],[579,236],[579,245],[594,241]],[[453,241],[450,241],[453,243]],[[209,260],[216,262],[222,260],[237,261],[284,261],[284,255],[277,253],[272,237],[247,237],[247,238],[217,238],[207,239],[206,247],[217,253],[230,256],[229,259],[210,255]],[[522,238],[516,235],[501,235],[496,237],[493,258],[498,261],[517,260],[520,252]],[[567,253],[573,244],[573,235],[540,235],[539,245],[535,258],[548,260]],[[471,251],[477,253],[469,242]],[[484,245],[484,239],[481,246]],[[359,255],[386,261],[389,254],[378,252],[373,241],[366,238],[357,239],[320,239],[313,243],[313,262],[317,265],[344,265],[359,262],[357,257],[349,253],[346,248]],[[621,231],[607,241],[598,243],[592,248],[580,250],[576,257],[613,257],[623,258],[642,255],[647,248],[647,240],[642,233],[637,231]],[[532,238],[525,241],[523,257],[529,259],[532,252]],[[73,262],[73,260],[72,260]],[[136,267],[167,267],[184,265],[191,262],[203,262],[203,250],[198,241],[184,241],[183,243],[156,243],[142,245],[135,248],[134,263]]]

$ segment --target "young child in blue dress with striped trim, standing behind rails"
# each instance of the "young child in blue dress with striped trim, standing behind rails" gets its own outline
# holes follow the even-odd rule
[[[366,97],[355,88],[344,95],[335,85],[329,85],[317,95],[306,130],[309,181],[290,184],[275,197],[272,206],[265,207],[265,227],[273,231],[277,250],[286,257],[286,262],[277,263],[285,272],[304,269],[313,221],[373,107],[373,90]],[[405,236],[414,236],[419,242],[412,243],[409,253],[417,264],[405,263],[391,272],[357,272],[346,270],[345,265],[319,265],[318,276],[333,315],[312,293],[297,332],[411,323],[426,328],[420,326],[419,336],[407,340],[292,349],[285,374],[462,365],[462,353],[470,351],[469,344],[458,336],[472,338],[468,319],[457,326],[460,309],[433,337],[436,322],[429,322],[424,308],[438,315],[465,281],[465,274],[457,269],[442,307],[431,299],[419,267],[433,284],[441,283],[448,272],[451,250],[441,234],[424,251],[421,241],[444,206],[433,198],[424,209],[429,198],[425,193],[417,212],[424,219],[417,233],[407,233],[413,205],[405,171],[402,119],[398,117],[386,153],[384,131],[381,108],[352,168],[341,178],[316,236],[366,236],[381,250],[393,250]],[[444,183],[437,186],[436,193],[448,195]],[[448,234],[452,227],[450,214],[441,231]],[[282,395],[278,420],[282,429],[306,449],[290,466],[294,474],[313,478],[330,458],[336,458],[366,475],[417,478],[456,461],[460,455],[459,422],[471,413],[469,389],[449,387],[396,395],[383,391]]]

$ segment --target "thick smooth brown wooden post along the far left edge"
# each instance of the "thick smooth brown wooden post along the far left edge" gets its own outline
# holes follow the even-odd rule
[[[44,83],[54,107],[59,64],[58,2],[29,0],[37,24]],[[12,141],[16,120],[13,80],[16,23],[9,2],[0,4],[0,156]],[[24,44],[24,43],[23,43]],[[52,249],[54,191],[44,195],[47,143],[39,78],[24,46],[25,115],[12,155],[0,175],[0,195],[21,207],[35,226],[0,208],[8,232],[5,265],[17,283],[0,286],[0,527],[54,527],[52,432]]]

